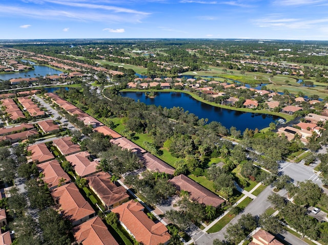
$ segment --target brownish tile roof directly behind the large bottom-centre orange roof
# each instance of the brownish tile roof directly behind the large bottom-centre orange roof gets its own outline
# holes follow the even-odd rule
[[[105,172],[99,172],[86,177],[89,186],[92,187],[107,207],[120,204],[129,199],[127,190],[122,186],[116,186],[112,183],[111,177],[109,173]]]

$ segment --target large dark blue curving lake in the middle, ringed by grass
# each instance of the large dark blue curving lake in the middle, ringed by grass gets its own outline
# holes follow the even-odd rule
[[[183,107],[185,111],[195,114],[199,119],[207,118],[209,122],[217,121],[228,129],[235,126],[243,132],[246,128],[262,129],[269,127],[271,122],[280,119],[277,116],[259,114],[259,113],[244,113],[236,110],[224,109],[215,107],[203,102],[200,102],[190,95],[178,92],[160,92],[153,99],[146,97],[144,92],[121,92],[122,97],[129,97],[135,101],[139,100],[147,105],[160,105],[162,107]]]

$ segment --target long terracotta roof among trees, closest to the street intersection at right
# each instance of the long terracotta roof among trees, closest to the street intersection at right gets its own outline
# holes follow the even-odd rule
[[[217,208],[224,203],[224,200],[219,196],[189,179],[186,175],[180,174],[169,181],[176,185],[180,190],[188,191],[190,198],[200,204],[212,205]]]

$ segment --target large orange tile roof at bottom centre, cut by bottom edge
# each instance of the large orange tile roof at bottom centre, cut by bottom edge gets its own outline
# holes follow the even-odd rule
[[[155,224],[142,211],[144,206],[133,200],[112,209],[119,214],[119,221],[133,234],[135,239],[145,245],[166,243],[170,239],[168,229],[161,222]]]

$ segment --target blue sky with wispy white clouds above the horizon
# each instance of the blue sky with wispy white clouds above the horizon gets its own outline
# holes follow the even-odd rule
[[[2,0],[0,39],[328,40],[328,0]]]

